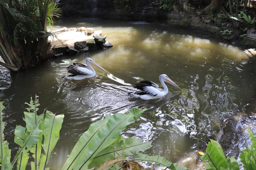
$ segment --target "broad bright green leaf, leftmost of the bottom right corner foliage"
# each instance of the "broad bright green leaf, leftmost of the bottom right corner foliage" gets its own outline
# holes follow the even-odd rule
[[[220,170],[221,167],[227,169],[226,156],[217,141],[210,139],[210,142],[206,148],[206,153],[207,154],[200,157],[200,159],[209,162],[205,166],[207,170]]]

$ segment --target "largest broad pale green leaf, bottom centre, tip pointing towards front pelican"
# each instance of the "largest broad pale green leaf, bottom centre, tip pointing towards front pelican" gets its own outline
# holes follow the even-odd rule
[[[146,109],[132,109],[127,113],[107,115],[103,120],[90,125],[74,146],[62,170],[87,169],[92,159],[115,142],[121,130],[135,122]]]

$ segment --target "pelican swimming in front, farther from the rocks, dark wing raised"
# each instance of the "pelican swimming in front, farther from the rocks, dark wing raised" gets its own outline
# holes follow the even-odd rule
[[[167,82],[172,86],[174,86],[175,88],[181,90],[180,87],[177,84],[175,84],[175,82],[173,82],[166,74],[161,74],[159,76],[159,80],[161,85],[164,88],[164,91],[157,90],[157,88],[159,88],[157,84],[150,82],[148,80],[142,80],[141,82],[135,84],[134,86],[140,91],[131,93],[131,95],[133,95],[133,97],[141,98],[144,100],[158,99],[158,98],[164,97],[168,93],[168,87],[164,82]]]

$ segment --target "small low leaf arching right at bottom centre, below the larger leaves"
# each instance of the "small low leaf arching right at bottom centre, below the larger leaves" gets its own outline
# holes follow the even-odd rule
[[[141,154],[139,153],[135,159],[141,159],[150,163],[156,163],[159,166],[165,166],[165,167],[169,167],[171,166],[171,162],[167,161],[165,157],[160,157],[159,155],[156,156],[148,156],[145,154]]]

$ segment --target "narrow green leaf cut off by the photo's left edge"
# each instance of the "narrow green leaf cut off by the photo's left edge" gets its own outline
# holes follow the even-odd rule
[[[11,150],[9,149],[9,143],[4,141],[3,103],[0,102],[0,163],[3,170],[11,170]]]

